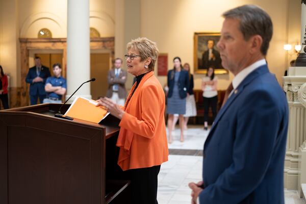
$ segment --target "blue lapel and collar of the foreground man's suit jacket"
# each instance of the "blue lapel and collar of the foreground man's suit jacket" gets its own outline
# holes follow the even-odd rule
[[[215,118],[215,121],[213,123],[213,126],[210,130],[210,133],[208,137],[213,133],[218,121],[221,119],[222,115],[225,113],[225,111],[231,106],[233,101],[242,93],[244,87],[248,85],[253,79],[259,77],[261,74],[269,72],[269,69],[267,65],[260,66],[259,68],[255,69],[251,73],[247,75],[247,77],[239,84],[239,86],[234,90],[233,94],[230,98],[226,100],[226,103],[224,106],[220,109],[219,113],[217,114],[217,117]]]

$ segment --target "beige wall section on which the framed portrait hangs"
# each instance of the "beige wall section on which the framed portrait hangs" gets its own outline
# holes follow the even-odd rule
[[[295,7],[300,6],[299,1]],[[141,35],[158,43],[161,53],[168,53],[168,68],[172,68],[172,59],[180,56],[183,63],[189,62],[193,67],[193,34],[194,32],[219,32],[223,19],[221,14],[236,6],[256,4],[265,9],[272,18],[274,29],[270,43],[267,61],[271,72],[276,74],[278,82],[282,83],[282,75],[286,68],[286,53],[283,45],[287,41],[287,11],[288,0],[253,0],[253,1],[189,1],[189,0],[142,0],[141,1]],[[292,4],[292,3],[291,3]],[[152,9],[154,8],[154,9]],[[157,12],[158,11],[158,12]],[[300,12],[300,9],[298,10]],[[290,20],[299,20],[298,12]],[[299,16],[298,16],[299,15]],[[298,23],[297,23],[298,24]],[[291,33],[299,34],[298,26]],[[195,89],[200,89],[202,74],[195,74]],[[226,89],[233,75],[219,75],[218,89]],[[162,85],[166,77],[159,77]]]

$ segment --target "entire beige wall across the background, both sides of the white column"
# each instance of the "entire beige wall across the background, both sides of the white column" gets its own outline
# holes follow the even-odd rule
[[[39,29],[46,27],[53,37],[65,38],[67,0],[0,0],[0,3],[0,63],[11,74],[12,86],[18,86],[19,37],[36,38]],[[271,15],[274,34],[267,60],[280,83],[286,64],[295,57],[287,56],[283,45],[296,43],[300,35],[300,2],[297,0],[133,0],[132,5],[131,1],[126,3],[125,0],[90,0],[90,26],[96,28],[101,37],[115,36],[116,57],[122,58],[126,42],[140,35],[156,41],[161,53],[168,53],[169,69],[175,56],[180,56],[183,63],[189,62],[193,68],[194,32],[219,32],[222,12],[242,4],[257,4]],[[202,77],[195,74],[195,89],[200,88]],[[162,85],[166,83],[166,77],[158,78]],[[233,75],[218,78],[218,89],[225,89]],[[127,88],[131,88],[132,79],[129,76]]]

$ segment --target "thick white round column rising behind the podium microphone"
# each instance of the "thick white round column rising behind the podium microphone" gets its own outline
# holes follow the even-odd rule
[[[67,8],[66,98],[90,80],[89,0],[68,0]],[[84,84],[69,101],[77,96],[91,99],[90,83]]]

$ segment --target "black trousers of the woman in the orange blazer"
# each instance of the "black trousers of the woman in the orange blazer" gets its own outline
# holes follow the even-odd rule
[[[127,170],[126,176],[131,181],[131,203],[158,204],[157,176],[161,165],[148,168]]]

